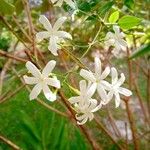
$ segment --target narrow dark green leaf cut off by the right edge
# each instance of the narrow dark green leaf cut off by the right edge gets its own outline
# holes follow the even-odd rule
[[[136,52],[134,52],[131,55],[130,59],[143,56],[143,55],[145,55],[147,53],[150,53],[150,43],[149,44],[145,44],[145,45],[141,46],[140,48],[138,48],[136,50]]]

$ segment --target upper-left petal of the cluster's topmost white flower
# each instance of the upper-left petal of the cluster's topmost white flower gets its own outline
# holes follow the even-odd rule
[[[95,79],[93,73],[90,71],[87,71],[85,69],[81,69],[80,76],[82,76],[84,79],[86,79],[88,81],[96,82],[96,79]]]

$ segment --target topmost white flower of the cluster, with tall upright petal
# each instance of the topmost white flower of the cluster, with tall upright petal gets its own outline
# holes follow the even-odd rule
[[[106,67],[105,70],[102,72],[101,61],[99,58],[95,57],[95,72],[92,73],[91,71],[87,71],[85,69],[81,69],[80,75],[88,80],[96,84],[97,92],[102,99],[102,103],[105,104],[105,101],[108,100],[107,93],[105,90],[105,85],[108,84],[107,81],[104,79],[109,75],[110,68]]]

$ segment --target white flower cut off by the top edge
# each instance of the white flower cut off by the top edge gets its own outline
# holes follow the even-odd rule
[[[72,0],[51,0],[52,3],[56,3],[55,6],[59,6],[61,7],[63,4],[63,1],[66,2],[66,4],[68,4],[70,7],[72,7],[73,9],[75,9],[75,3]]]

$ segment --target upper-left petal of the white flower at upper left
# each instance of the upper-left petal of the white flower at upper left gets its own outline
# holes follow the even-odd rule
[[[51,23],[49,22],[49,20],[44,15],[40,16],[39,21],[44,26],[44,28],[46,30],[51,32],[51,30],[52,30]]]

